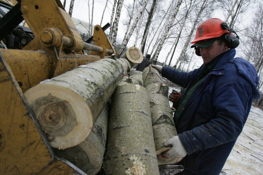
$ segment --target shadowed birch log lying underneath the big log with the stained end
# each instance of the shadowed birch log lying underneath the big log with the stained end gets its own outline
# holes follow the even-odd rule
[[[102,167],[109,114],[110,104],[108,103],[103,108],[86,140],[70,148],[53,149],[55,155],[70,161],[87,174],[97,174]]]

